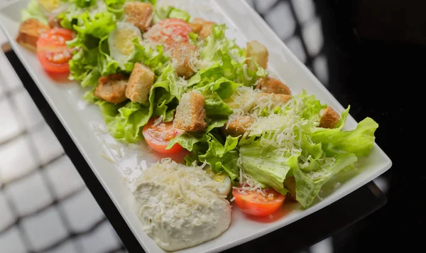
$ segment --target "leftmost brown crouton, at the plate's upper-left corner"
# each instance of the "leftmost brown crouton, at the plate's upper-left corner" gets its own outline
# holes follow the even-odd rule
[[[21,23],[16,42],[29,50],[37,49],[37,41],[41,34],[49,29],[44,23],[35,18],[29,18]]]

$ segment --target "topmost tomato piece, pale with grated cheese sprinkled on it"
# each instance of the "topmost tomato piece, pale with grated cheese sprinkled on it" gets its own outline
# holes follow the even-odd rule
[[[146,36],[152,41],[169,47],[175,43],[189,41],[188,34],[191,32],[190,25],[180,18],[167,18],[155,23],[147,32]]]

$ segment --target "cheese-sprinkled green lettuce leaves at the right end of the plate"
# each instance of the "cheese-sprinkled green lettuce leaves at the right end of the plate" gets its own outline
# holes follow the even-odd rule
[[[342,131],[348,107],[334,129],[317,127],[320,110],[327,107],[306,92],[253,124],[249,139],[239,142],[241,166],[265,187],[285,194],[285,178],[295,177],[296,200],[307,208],[324,183],[358,156],[370,154],[378,124],[371,118],[356,129]]]

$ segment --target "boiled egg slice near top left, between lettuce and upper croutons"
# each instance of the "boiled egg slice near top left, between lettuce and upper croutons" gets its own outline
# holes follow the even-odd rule
[[[142,40],[142,33],[136,26],[127,22],[117,22],[117,26],[109,34],[109,55],[121,65],[127,63],[129,56],[133,53],[135,46],[133,39]]]

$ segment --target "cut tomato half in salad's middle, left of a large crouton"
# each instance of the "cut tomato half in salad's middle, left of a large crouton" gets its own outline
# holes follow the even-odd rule
[[[158,118],[150,119],[142,130],[143,137],[151,149],[161,154],[176,154],[182,151],[182,146],[179,144],[173,145],[171,149],[165,149],[169,141],[178,136],[182,130],[175,129],[173,122],[161,122],[154,126],[155,119]]]

